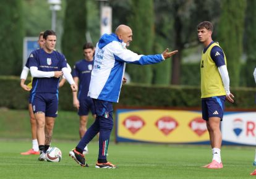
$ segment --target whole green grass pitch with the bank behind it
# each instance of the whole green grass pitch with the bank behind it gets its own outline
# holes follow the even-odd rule
[[[31,148],[26,110],[0,110],[0,178],[253,178],[249,173],[255,148],[223,146],[223,169],[203,169],[211,160],[210,146],[119,143],[109,144],[108,160],[119,169],[95,169],[96,139],[89,144],[82,168],[69,157],[79,141],[75,112],[59,112],[52,146],[62,151],[59,163],[40,162],[38,156],[21,156]],[[113,139],[113,136],[111,136]],[[256,177],[256,176],[255,176]]]

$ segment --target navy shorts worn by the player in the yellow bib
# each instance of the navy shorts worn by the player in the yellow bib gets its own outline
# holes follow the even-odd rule
[[[213,96],[202,98],[202,116],[204,120],[210,117],[220,117],[223,119],[226,96]]]

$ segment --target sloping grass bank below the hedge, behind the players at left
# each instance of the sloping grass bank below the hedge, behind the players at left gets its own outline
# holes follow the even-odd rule
[[[0,138],[31,138],[28,110],[0,108],[0,114]],[[89,114],[87,127],[90,127],[93,121],[92,115]],[[79,140],[79,115],[77,115],[77,112],[58,112],[54,124],[53,138]],[[112,135],[111,138],[114,138],[114,136]]]

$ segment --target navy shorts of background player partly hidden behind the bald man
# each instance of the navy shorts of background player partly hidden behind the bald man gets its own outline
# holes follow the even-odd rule
[[[95,106],[93,104],[93,99],[90,97],[85,97],[82,99],[79,99],[79,110],[77,112],[78,115],[88,115],[89,110],[91,110],[92,114],[95,114]]]

